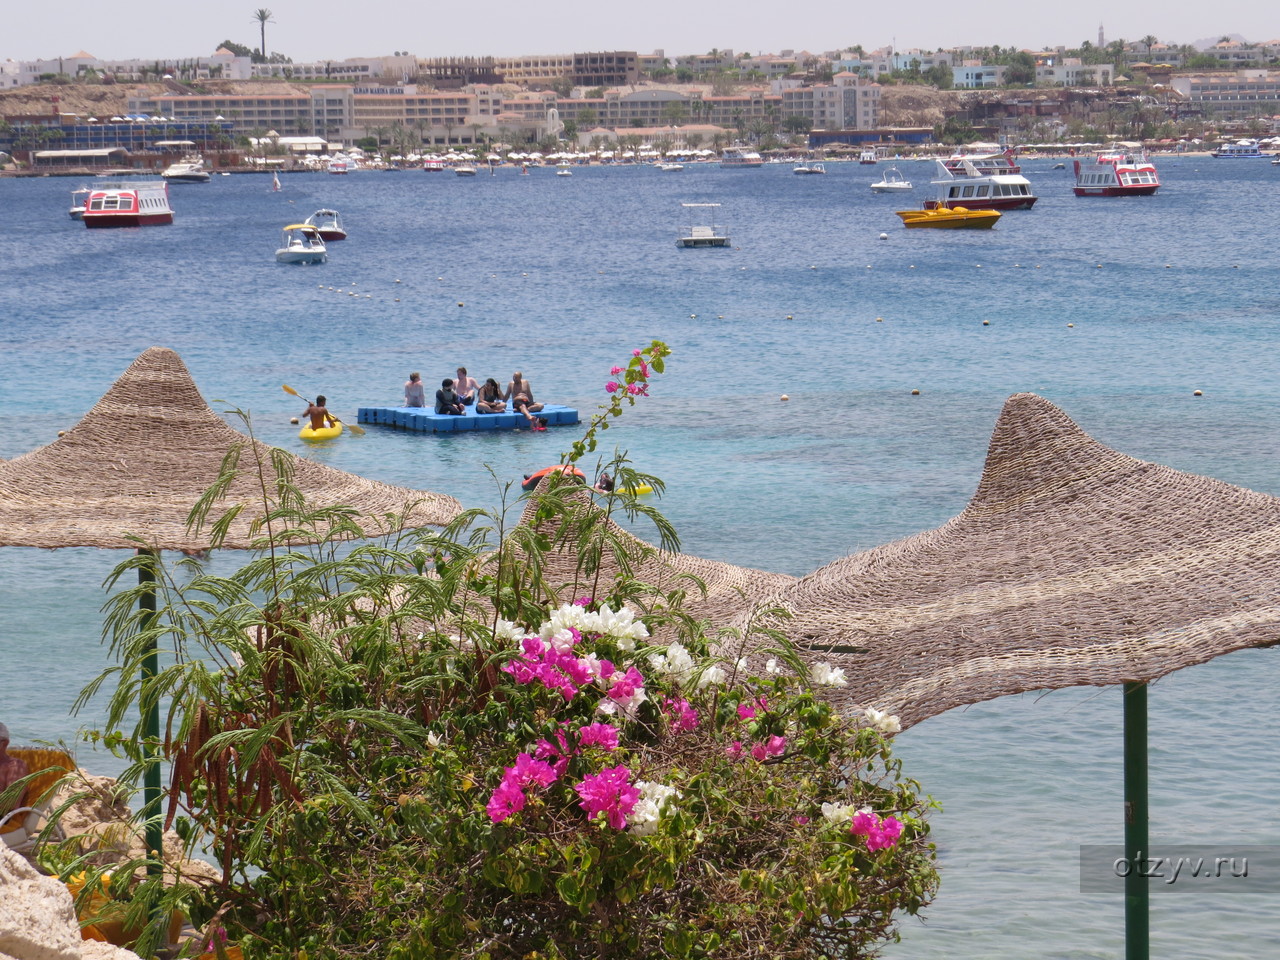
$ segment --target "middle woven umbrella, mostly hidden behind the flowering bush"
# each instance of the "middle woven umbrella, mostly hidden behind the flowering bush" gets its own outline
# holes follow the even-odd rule
[[[575,507],[591,507],[591,494],[585,489],[570,493],[567,499]],[[520,522],[524,526],[538,524],[539,531],[553,540],[552,549],[547,552],[543,561],[543,576],[558,595],[581,591],[589,584],[584,582],[582,575],[577,571],[577,544],[568,536],[557,538],[558,517],[538,520],[539,502],[539,494],[529,498]],[[627,545],[627,556],[641,558],[635,563],[630,575],[664,593],[677,589],[685,590],[687,593],[685,611],[696,620],[727,625],[765,596],[795,582],[795,577],[786,573],[769,573],[750,567],[736,567],[722,561],[662,550],[631,535],[612,518],[600,517],[600,520],[611,536]],[[602,562],[603,580],[612,582],[620,573],[614,558],[605,556]],[[695,576],[705,584],[705,595],[696,584],[687,579],[689,576]]]

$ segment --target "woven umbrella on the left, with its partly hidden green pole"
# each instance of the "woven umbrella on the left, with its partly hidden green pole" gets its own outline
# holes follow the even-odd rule
[[[137,549],[132,534],[150,552],[205,550],[214,545],[212,531],[188,529],[187,517],[237,445],[243,447],[242,467],[256,454],[270,470],[270,448],[223,422],[178,355],[152,347],[64,436],[0,463],[0,547]],[[380,484],[298,457],[293,483],[312,507],[351,506],[371,534],[389,532],[392,524],[445,524],[461,511],[452,497]],[[256,476],[237,477],[221,503],[243,509],[219,545],[253,545],[251,524],[264,512]],[[140,567],[142,582],[152,575],[148,566]],[[155,609],[154,595],[143,608]],[[154,654],[148,663],[143,673],[154,675]],[[157,737],[159,728],[154,704],[148,737]],[[145,797],[147,809],[157,808],[160,772],[154,764]],[[160,849],[159,824],[148,824],[147,846]]]

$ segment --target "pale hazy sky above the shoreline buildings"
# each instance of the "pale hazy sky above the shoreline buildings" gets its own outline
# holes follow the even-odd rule
[[[991,45],[1039,49],[1152,35],[1192,44],[1224,35],[1252,42],[1280,36],[1274,8],[1251,0],[1179,4],[1068,4],[992,0],[986,4],[923,0],[893,3],[810,0],[493,0],[492,3],[376,3],[360,0],[257,0],[271,10],[266,46],[293,60],[376,56],[407,50],[419,56],[561,54],[589,50],[664,50],[668,56],[735,51],[822,52],[851,44],[873,50]],[[0,60],[68,56],[84,50],[104,60],[191,58],[223,40],[257,47],[259,6],[250,3],[178,5],[101,4],[88,0],[13,3],[0,15]]]

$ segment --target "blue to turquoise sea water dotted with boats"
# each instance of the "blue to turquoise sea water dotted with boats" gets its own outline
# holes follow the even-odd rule
[[[279,193],[219,177],[174,186],[174,225],[141,230],[70,221],[76,180],[0,179],[0,457],[52,440],[160,344],[271,443],[489,504],[485,465],[518,477],[576,434],[371,429],[303,451],[288,422],[302,404],[280,384],[353,419],[394,403],[411,370],[433,384],[460,364],[503,383],[520,369],[586,413],[608,369],[660,338],[668,374],[607,439],[668,481],[689,553],[799,575],[937,526],[1020,390],[1133,456],[1280,493],[1280,227],[1260,212],[1280,173],[1158,165],[1157,196],[1096,200],[1033,161],[1039,205],[989,233],[904,230],[892,211],[932,173],[913,163],[909,201],[873,195],[879,170],[856,164],[300,174]],[[722,204],[735,248],[677,250],[681,202]],[[351,239],[325,265],[276,265],[279,228],[325,206]],[[0,550],[0,652],[20,664],[0,671],[0,718],[17,739],[96,722],[68,710],[104,666],[101,581],[118,559]],[[1280,842],[1277,675],[1263,650],[1155,685],[1155,838]],[[886,956],[1120,954],[1121,904],[1082,895],[1074,859],[1121,837],[1116,690],[975,705],[899,745],[945,806],[943,886]],[[87,748],[81,762],[115,769]],[[1274,908],[1239,895],[1158,897],[1152,928],[1156,956],[1280,947]]]

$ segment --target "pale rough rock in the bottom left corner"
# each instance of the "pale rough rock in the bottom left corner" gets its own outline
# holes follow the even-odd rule
[[[0,844],[0,957],[5,960],[138,960],[81,938],[70,891]]]

